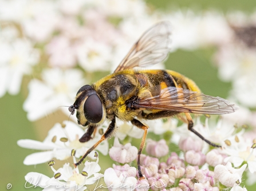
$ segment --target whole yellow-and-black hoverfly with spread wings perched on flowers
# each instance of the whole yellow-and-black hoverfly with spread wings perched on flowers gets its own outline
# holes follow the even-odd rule
[[[105,119],[111,123],[101,139],[74,166],[81,164],[97,145],[113,135],[116,130],[116,117],[131,121],[133,125],[144,130],[137,157],[140,179],[143,178],[140,155],[148,129],[147,125],[140,122],[141,119],[153,120],[185,113],[188,129],[208,144],[219,147],[195,131],[190,113],[225,114],[234,112],[237,106],[220,97],[202,94],[191,79],[178,72],[135,68],[151,66],[166,59],[170,51],[170,35],[170,23],[157,23],[133,45],[113,74],[78,90],[69,111],[73,115],[76,109],[78,124],[88,126],[80,142],[90,140],[96,127]]]

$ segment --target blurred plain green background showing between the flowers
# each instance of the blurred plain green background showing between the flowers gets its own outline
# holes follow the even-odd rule
[[[193,9],[193,10],[218,10],[227,13],[229,11],[241,10],[245,13],[255,11],[256,1],[232,1],[232,0],[215,0],[215,1],[153,1],[148,0],[152,7],[162,9],[164,11],[175,9]],[[142,31],[141,31],[142,32]],[[140,35],[140,34],[138,34]],[[212,96],[227,97],[231,89],[230,83],[223,83],[218,79],[217,68],[212,64],[212,54],[214,48],[207,48],[196,51],[178,50],[172,52],[166,62],[166,68],[180,72],[191,78],[198,84],[204,94]],[[102,76],[97,76],[101,78]],[[1,141],[1,165],[0,165],[0,189],[7,190],[6,185],[12,184],[10,190],[42,190],[42,188],[25,188],[24,176],[28,172],[40,172],[48,176],[52,176],[52,170],[47,164],[35,166],[23,165],[25,157],[36,151],[19,148],[17,140],[33,139],[42,141],[47,135],[48,130],[52,128],[54,118],[68,120],[62,113],[55,113],[53,117],[45,117],[36,123],[31,123],[26,118],[26,113],[22,109],[23,101],[26,98],[26,80],[22,82],[23,91],[18,95],[10,96],[6,94],[0,99],[0,141]],[[0,85],[1,86],[1,85]],[[71,103],[70,103],[71,104]],[[100,163],[103,161],[100,161]],[[245,180],[246,177],[243,177]],[[247,190],[255,190],[256,186],[246,186]]]

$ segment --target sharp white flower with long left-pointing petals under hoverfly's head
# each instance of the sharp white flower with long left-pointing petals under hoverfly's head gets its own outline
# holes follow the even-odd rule
[[[71,156],[72,149],[76,150],[76,157],[78,158],[100,140],[100,135],[97,132],[94,139],[86,143],[80,143],[79,139],[85,133],[81,127],[72,121],[64,121],[64,124],[66,125],[65,128],[62,128],[59,123],[55,124],[42,142],[29,139],[18,140],[19,147],[41,150],[41,152],[28,155],[23,163],[25,165],[41,164],[53,158],[65,160]],[[108,142],[103,141],[96,150],[103,153],[103,155],[107,155]],[[90,153],[89,156],[92,158],[93,153]]]

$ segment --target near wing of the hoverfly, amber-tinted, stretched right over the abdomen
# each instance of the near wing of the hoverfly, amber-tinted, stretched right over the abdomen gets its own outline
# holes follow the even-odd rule
[[[201,114],[225,114],[238,109],[236,105],[221,97],[176,87],[165,88],[158,96],[141,97],[134,107]]]

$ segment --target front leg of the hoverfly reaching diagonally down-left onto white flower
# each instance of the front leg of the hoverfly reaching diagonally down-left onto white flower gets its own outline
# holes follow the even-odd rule
[[[100,140],[97,141],[97,143],[95,143],[91,148],[89,148],[88,151],[86,151],[86,153],[84,154],[84,156],[82,156],[82,158],[76,164],[73,164],[75,168],[78,165],[80,165],[82,161],[85,159],[85,157],[89,155],[89,153],[92,152],[102,141],[108,139],[108,137],[112,135],[113,131],[115,130],[115,125],[116,118],[114,117],[111,121],[111,124],[109,124],[107,131],[103,134],[103,136],[101,136]]]

